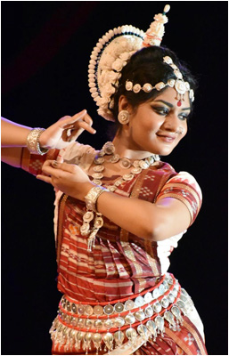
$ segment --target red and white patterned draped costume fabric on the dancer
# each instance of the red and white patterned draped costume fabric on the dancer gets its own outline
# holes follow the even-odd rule
[[[56,150],[55,155],[58,154],[66,162],[78,164],[88,173],[96,151],[90,146],[74,142],[66,150]],[[36,175],[40,173],[44,160],[45,156],[29,156],[26,150],[22,168]],[[117,179],[119,176],[104,177],[102,182],[111,184]],[[163,197],[179,199],[187,206],[191,223],[200,211],[201,191],[192,175],[186,172],[177,174],[172,166],[160,161],[135,175],[132,181],[123,182],[115,193],[151,203]],[[168,270],[168,256],[177,247],[183,233],[164,241],[146,241],[103,217],[104,224],[97,233],[95,247],[90,252],[87,251],[87,238],[80,234],[85,212],[84,202],[57,192],[54,231],[58,263],[57,286],[61,293],[88,303],[109,302],[131,297],[155,286],[157,280]],[[163,337],[143,344],[135,354],[207,354],[199,316],[195,319],[199,324],[196,326],[193,325],[192,318],[184,319],[180,330],[175,332],[166,328]],[[68,353],[64,352],[64,347],[60,352],[53,350],[53,354]]]

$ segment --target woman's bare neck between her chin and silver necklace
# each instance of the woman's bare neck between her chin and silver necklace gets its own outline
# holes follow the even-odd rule
[[[112,142],[115,146],[115,152],[119,154],[120,158],[144,159],[152,155],[151,152],[145,150],[134,150],[127,137],[121,134],[116,135]]]

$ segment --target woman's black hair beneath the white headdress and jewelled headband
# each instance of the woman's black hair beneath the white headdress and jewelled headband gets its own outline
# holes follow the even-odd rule
[[[126,90],[125,85],[127,80],[130,80],[133,85],[140,84],[143,86],[145,83],[150,83],[154,86],[159,82],[167,83],[170,78],[176,79],[173,69],[163,62],[163,57],[165,56],[172,58],[173,62],[182,72],[184,81],[187,81],[190,84],[191,89],[196,89],[196,79],[192,76],[190,70],[187,69],[184,62],[181,63],[178,60],[175,53],[170,51],[167,47],[145,47],[133,54],[130,61],[128,61],[127,65],[122,69],[119,86],[116,87],[116,92],[112,96],[114,105],[112,109],[110,108],[110,111],[116,120],[118,128],[120,127],[118,114],[119,98],[121,95],[126,96],[127,101],[135,110],[140,104],[156,98],[159,93],[162,93],[168,88],[168,86],[166,86],[160,91],[153,89],[150,93],[144,93],[143,90],[139,93],[134,93],[133,91]]]

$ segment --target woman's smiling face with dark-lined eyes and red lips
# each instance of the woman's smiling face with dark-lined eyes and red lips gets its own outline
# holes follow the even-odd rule
[[[157,98],[140,104],[130,112],[128,124],[129,150],[142,150],[167,156],[187,133],[190,100],[185,93],[181,106],[177,106],[177,93],[168,88]]]

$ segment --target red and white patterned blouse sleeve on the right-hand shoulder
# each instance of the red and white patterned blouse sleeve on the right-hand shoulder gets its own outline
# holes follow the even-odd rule
[[[190,225],[199,214],[202,203],[200,186],[195,178],[187,172],[180,172],[169,179],[160,190],[157,200],[159,198],[176,198],[182,201],[191,214]]]

